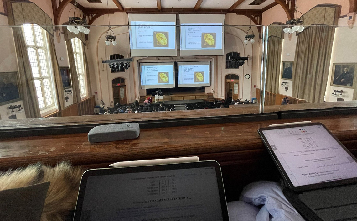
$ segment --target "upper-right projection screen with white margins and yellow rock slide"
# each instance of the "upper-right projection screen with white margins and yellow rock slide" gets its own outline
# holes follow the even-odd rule
[[[224,15],[180,15],[180,55],[223,55]]]

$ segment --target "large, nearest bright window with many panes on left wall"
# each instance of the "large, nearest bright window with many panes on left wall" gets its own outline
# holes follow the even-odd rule
[[[22,25],[40,110],[54,107],[55,92],[45,30],[36,24]]]

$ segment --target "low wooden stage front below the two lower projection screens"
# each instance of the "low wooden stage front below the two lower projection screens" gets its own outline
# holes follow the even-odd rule
[[[143,102],[146,98],[150,97],[151,95],[141,96],[140,101]],[[205,92],[178,92],[172,94],[164,94],[164,102],[167,103],[168,101],[181,101],[182,103],[190,103],[187,100],[203,100],[203,101],[213,101],[213,94],[212,93],[205,93]],[[152,102],[155,102],[155,96],[152,96]],[[167,103],[169,104],[169,103]]]

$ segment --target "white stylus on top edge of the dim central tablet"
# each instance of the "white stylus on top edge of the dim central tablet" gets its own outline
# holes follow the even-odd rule
[[[149,166],[149,165],[160,165],[160,164],[171,164],[171,163],[189,163],[197,162],[198,157],[176,157],[176,158],[166,158],[166,159],[147,159],[138,161],[122,161],[117,163],[112,163],[110,167],[137,167],[137,166]]]

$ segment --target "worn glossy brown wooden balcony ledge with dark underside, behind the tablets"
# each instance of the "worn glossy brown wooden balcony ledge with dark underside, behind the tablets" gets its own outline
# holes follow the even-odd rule
[[[257,130],[305,120],[325,124],[357,156],[357,116],[352,115],[141,129],[137,139],[97,144],[90,144],[86,133],[0,138],[0,170],[36,162],[54,165],[62,160],[101,168],[117,161],[198,156],[221,164],[227,201],[231,201],[250,182],[277,180],[277,170]]]

